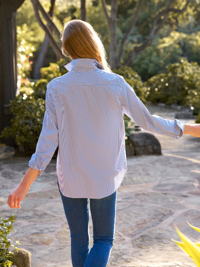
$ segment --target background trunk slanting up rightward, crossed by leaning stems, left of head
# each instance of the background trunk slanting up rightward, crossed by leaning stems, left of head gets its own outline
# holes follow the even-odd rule
[[[50,10],[49,10],[50,17],[53,17],[54,6],[55,6],[55,0],[51,0],[51,7],[50,7]],[[48,25],[48,23],[47,23],[47,25]],[[50,26],[50,25],[48,25],[48,26]],[[34,70],[33,70],[33,78],[34,79],[39,79],[39,77],[40,77],[40,69],[44,65],[44,61],[45,61],[46,53],[47,53],[47,50],[48,50],[48,46],[49,46],[49,40],[48,40],[47,35],[45,34],[45,39],[44,39],[44,41],[42,43],[42,46],[40,48],[37,60],[36,60],[35,65],[34,65]]]

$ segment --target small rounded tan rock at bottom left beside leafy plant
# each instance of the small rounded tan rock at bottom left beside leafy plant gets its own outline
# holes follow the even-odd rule
[[[17,267],[31,267],[31,253],[26,249],[17,249],[13,250],[13,259],[12,262]]]

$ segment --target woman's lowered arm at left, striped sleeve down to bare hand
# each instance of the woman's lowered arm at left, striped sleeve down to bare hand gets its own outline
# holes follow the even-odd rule
[[[20,209],[20,203],[29,191],[30,185],[45,170],[58,146],[58,122],[51,92],[47,91],[45,102],[46,111],[42,131],[39,136],[36,151],[29,161],[30,168],[18,187],[9,194],[7,203],[11,209]]]

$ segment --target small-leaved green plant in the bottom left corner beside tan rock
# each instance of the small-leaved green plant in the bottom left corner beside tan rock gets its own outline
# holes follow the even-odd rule
[[[4,220],[2,217],[0,217],[0,266],[1,267],[9,267],[13,264],[12,258],[13,258],[13,250],[9,251],[10,242],[11,241],[7,236],[10,235],[11,231],[13,230],[13,223],[15,222],[15,215],[12,215],[9,219]],[[14,226],[15,227],[15,226]],[[16,241],[17,245],[19,244],[19,241]],[[13,249],[18,248],[14,245],[11,245]]]

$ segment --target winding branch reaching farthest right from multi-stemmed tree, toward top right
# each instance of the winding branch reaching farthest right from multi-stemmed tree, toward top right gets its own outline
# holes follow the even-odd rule
[[[167,18],[168,18],[168,12],[175,12],[175,13],[182,13],[183,11],[186,10],[187,6],[189,5],[189,3],[193,1],[193,0],[188,0],[185,7],[183,9],[174,9],[174,8],[166,8],[165,10],[159,12],[159,14],[154,18],[153,23],[152,23],[152,28],[149,34],[149,39],[147,40],[147,42],[145,44],[143,44],[142,46],[136,47],[134,48],[134,50],[131,53],[130,58],[128,58],[125,63],[123,65],[127,65],[130,66],[133,59],[136,58],[136,56],[141,53],[142,50],[144,50],[147,46],[150,46],[155,35],[159,32],[159,30],[163,27],[163,25],[165,24]],[[171,0],[169,3],[169,6],[174,2],[174,0]],[[160,23],[160,25],[156,28],[158,19],[161,17],[161,15],[164,15],[163,21]]]

